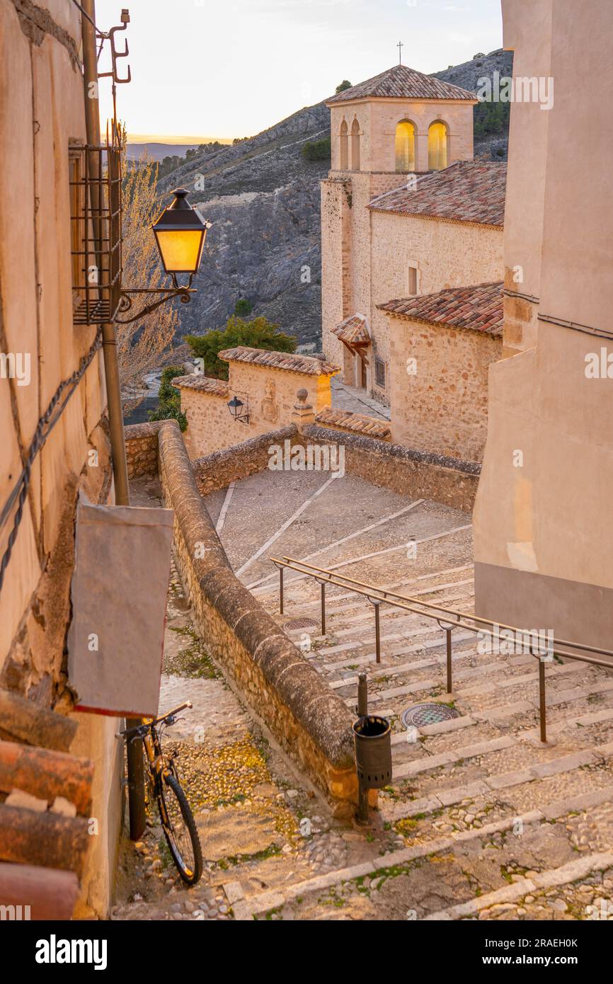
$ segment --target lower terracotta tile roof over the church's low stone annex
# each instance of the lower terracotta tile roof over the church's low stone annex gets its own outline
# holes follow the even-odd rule
[[[381,311],[404,315],[411,321],[465,328],[498,338],[503,331],[503,282],[450,287],[436,294],[388,301],[377,307]]]

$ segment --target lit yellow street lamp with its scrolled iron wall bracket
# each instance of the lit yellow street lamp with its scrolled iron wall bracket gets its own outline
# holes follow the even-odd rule
[[[159,252],[164,273],[172,280],[171,287],[122,287],[118,310],[126,313],[132,307],[133,294],[161,294],[157,300],[142,308],[131,318],[115,318],[120,325],[129,324],[151,314],[160,304],[179,297],[182,304],[189,304],[191,295],[195,293],[192,287],[194,275],[198,273],[207,232],[211,222],[206,221],[200,213],[187,201],[188,192],[185,188],[177,188],[174,199],[153,222],[153,235]],[[186,285],[180,286],[178,274],[187,274]]]

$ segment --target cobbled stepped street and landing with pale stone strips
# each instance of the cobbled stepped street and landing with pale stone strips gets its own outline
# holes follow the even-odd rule
[[[275,523],[278,528],[293,515],[295,481],[271,473],[237,484],[220,534],[235,569],[271,537]],[[337,512],[333,483],[314,500],[313,514],[309,506],[303,522],[283,532],[282,552],[293,540],[292,555],[311,553],[316,529],[320,544],[333,545],[313,563],[340,563],[357,580],[470,611],[469,519],[353,482],[344,486],[352,517]],[[154,495],[153,483],[141,488],[146,498]],[[223,493],[208,498],[214,522],[223,499]],[[250,499],[252,509],[258,501],[261,527],[246,522]],[[409,559],[404,547],[411,536],[418,548]],[[542,745],[529,654],[483,655],[473,634],[458,632],[454,689],[447,693],[436,622],[382,609],[376,665],[372,609],[363,599],[331,588],[322,637],[318,585],[286,576],[285,614],[278,616],[276,580],[267,580],[266,564],[276,549],[245,570],[243,581],[279,622],[311,619],[310,630],[292,637],[349,707],[357,670],[368,672],[371,707],[392,721],[393,782],[380,794],[371,830],[334,820],[228,689],[206,641],[193,632],[175,575],[160,707],[194,703],[173,740],[198,818],[205,875],[195,889],[178,884],[152,820],[143,844],[124,849],[113,918],[612,918],[613,673],[547,665],[549,742]],[[406,731],[402,710],[423,701],[458,716]]]

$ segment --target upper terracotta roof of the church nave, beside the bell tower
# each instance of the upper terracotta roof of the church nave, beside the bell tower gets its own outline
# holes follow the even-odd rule
[[[417,187],[406,186],[373,199],[373,212],[424,215],[480,225],[504,225],[507,165],[476,160],[457,160],[442,171],[417,178]]]

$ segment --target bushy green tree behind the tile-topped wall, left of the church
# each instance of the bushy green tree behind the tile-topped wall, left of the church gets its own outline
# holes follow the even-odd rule
[[[243,321],[236,315],[228,318],[222,330],[208,332],[207,335],[187,335],[185,340],[195,357],[203,359],[205,375],[213,376],[215,379],[228,378],[227,362],[218,358],[218,353],[224,348],[249,345],[252,348],[265,348],[269,352],[296,350],[296,339],[279,332],[278,325],[273,325],[266,318]]]

